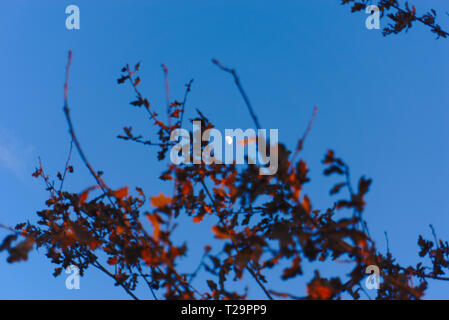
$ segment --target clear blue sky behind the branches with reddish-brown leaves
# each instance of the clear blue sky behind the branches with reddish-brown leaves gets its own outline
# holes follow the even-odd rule
[[[418,12],[437,9],[449,26],[449,2],[414,2]],[[69,4],[80,7],[81,30],[65,28]],[[131,89],[116,83],[120,68],[142,61],[141,88],[162,111],[165,63],[172,97],[181,99],[184,83],[195,79],[187,118],[200,108],[218,127],[251,127],[231,78],[210,62],[217,58],[238,69],[262,126],[279,128],[291,148],[319,107],[302,154],[311,169],[306,191],[312,204],[324,208],[333,201],[328,190],[335,180],[322,177],[320,163],[332,148],[354,179],[366,174],[374,180],[366,218],[379,247],[386,247],[387,231],[393,254],[415,264],[417,237],[431,237],[430,223],[449,238],[449,40],[435,40],[420,25],[384,38],[367,30],[365,19],[337,0],[1,1],[0,221],[36,221],[36,210],[44,208],[43,185],[30,176],[38,156],[49,173],[64,166],[69,49],[70,105],[85,151],[111,186],[141,186],[148,195],[170,189],[155,182],[163,164],[154,150],[115,138],[125,125],[151,133],[144,115],[128,104]],[[79,192],[93,181],[77,156],[74,165],[67,186]],[[179,231],[193,258],[202,250],[196,228]],[[0,299],[128,298],[95,270],[81,279],[81,290],[69,291],[65,275],[55,279],[53,268],[43,252],[13,265],[1,254]],[[289,288],[304,294],[301,281]],[[254,289],[252,297],[263,295]],[[426,297],[449,298],[447,284],[432,283]]]

